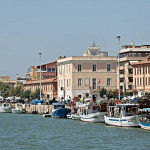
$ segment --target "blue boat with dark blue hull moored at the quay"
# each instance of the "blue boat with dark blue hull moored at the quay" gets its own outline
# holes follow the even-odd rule
[[[66,118],[69,112],[70,112],[70,109],[65,108],[65,104],[62,104],[62,103],[52,104],[52,117]]]

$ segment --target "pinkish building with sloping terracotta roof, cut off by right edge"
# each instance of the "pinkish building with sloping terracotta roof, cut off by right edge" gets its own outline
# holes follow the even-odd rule
[[[133,67],[133,87],[137,91],[150,92],[150,54]]]

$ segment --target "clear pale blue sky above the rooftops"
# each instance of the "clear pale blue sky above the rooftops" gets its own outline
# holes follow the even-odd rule
[[[93,41],[116,56],[121,45],[150,44],[150,0],[0,0],[0,76],[81,56]]]

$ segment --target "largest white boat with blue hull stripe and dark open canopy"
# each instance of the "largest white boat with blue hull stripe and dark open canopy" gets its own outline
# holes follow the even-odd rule
[[[117,104],[108,106],[109,112],[104,116],[105,123],[120,127],[138,127],[139,115],[137,104]]]

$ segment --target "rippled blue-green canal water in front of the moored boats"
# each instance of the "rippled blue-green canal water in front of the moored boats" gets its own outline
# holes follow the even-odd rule
[[[0,150],[147,150],[150,132],[41,115],[0,114]]]

